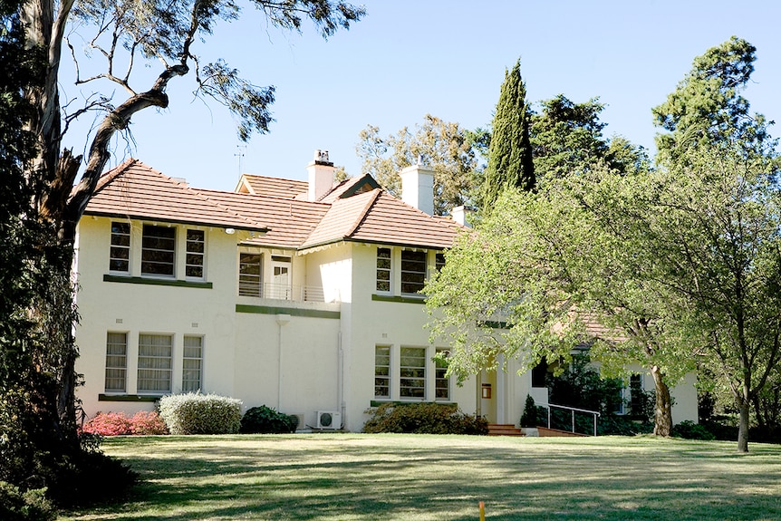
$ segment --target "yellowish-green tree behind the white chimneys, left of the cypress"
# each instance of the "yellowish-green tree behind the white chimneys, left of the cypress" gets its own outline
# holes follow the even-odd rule
[[[391,194],[400,195],[402,169],[420,157],[434,169],[434,213],[447,215],[453,207],[469,203],[477,167],[473,141],[458,123],[426,114],[414,133],[407,127],[386,138],[378,127],[361,130],[355,147],[362,159],[362,171],[371,174]]]

